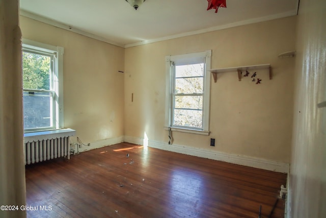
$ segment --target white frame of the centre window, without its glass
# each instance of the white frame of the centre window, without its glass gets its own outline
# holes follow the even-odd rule
[[[211,50],[204,52],[166,56],[166,113],[165,129],[186,133],[209,135],[209,109],[210,109],[210,71],[211,68]],[[202,129],[176,127],[172,125],[173,112],[173,82],[175,80],[173,73],[173,63],[177,65],[194,64],[198,60],[204,60],[204,90],[203,90],[203,124]]]

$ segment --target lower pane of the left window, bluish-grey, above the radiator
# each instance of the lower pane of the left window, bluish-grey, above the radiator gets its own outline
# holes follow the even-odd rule
[[[51,101],[49,92],[23,92],[24,129],[52,126]]]

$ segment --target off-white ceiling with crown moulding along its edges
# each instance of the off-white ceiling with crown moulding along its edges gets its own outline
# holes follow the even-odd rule
[[[207,0],[20,0],[20,14],[122,47],[293,16],[298,0],[227,0],[218,13]]]

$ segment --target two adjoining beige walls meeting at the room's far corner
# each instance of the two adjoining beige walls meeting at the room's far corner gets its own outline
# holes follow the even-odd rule
[[[165,56],[212,50],[212,68],[270,63],[274,78],[258,72],[263,81],[255,85],[238,82],[236,72],[219,74],[211,84],[211,134],[174,132],[174,144],[286,163],[294,59],[277,56],[295,50],[295,22],[288,17],[122,49],[20,16],[23,38],[64,47],[65,128],[84,143],[145,133],[167,143]]]

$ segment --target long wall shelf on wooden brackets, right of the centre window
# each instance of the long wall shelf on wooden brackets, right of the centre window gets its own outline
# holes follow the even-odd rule
[[[270,64],[218,68],[218,69],[210,69],[209,71],[211,71],[211,73],[213,75],[213,78],[214,78],[214,82],[216,83],[216,80],[218,79],[218,74],[220,72],[234,72],[234,71],[236,71],[238,73],[238,79],[239,79],[239,81],[241,81],[241,78],[242,78],[241,72],[245,72],[246,70],[258,70],[258,69],[268,69],[269,79],[271,80],[271,78],[273,76],[272,76]]]

